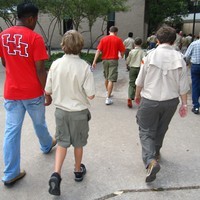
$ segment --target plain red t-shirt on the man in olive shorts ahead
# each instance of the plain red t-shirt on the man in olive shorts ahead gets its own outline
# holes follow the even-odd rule
[[[108,35],[102,38],[97,49],[102,52],[103,60],[118,60],[119,52],[125,51],[123,41],[115,35]]]

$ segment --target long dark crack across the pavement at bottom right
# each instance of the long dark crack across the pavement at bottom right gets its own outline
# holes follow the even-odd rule
[[[125,189],[118,190],[111,194],[105,195],[103,197],[94,199],[94,200],[107,200],[116,196],[121,196],[126,193],[140,193],[140,192],[164,192],[164,191],[179,191],[179,190],[199,190],[200,185],[197,186],[183,186],[183,187],[160,187],[160,188],[146,188],[146,189]]]

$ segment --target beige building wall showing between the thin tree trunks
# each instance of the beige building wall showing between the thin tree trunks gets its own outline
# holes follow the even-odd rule
[[[144,25],[144,10],[145,10],[145,1],[144,0],[129,0],[128,5],[130,10],[128,12],[119,12],[115,15],[115,25],[119,28],[118,36],[121,37],[123,40],[127,38],[128,32],[133,32],[133,37],[141,37],[142,39],[146,38],[146,26]],[[48,35],[48,27],[52,20],[52,16],[48,14],[40,14],[38,21],[42,25],[42,28],[45,31],[45,34]],[[98,19],[97,22],[94,24],[94,27],[92,29],[92,38],[95,40],[97,36],[101,35],[101,26],[102,26],[102,20]],[[3,29],[6,28],[5,23],[0,19],[0,24],[3,27]],[[53,24],[54,25],[54,24]],[[81,24],[81,29],[79,30],[82,32],[85,40],[85,47],[90,46],[90,34],[88,31],[88,24],[86,22],[83,22]],[[104,29],[106,29],[106,23],[104,23]],[[52,29],[51,29],[52,30]],[[44,36],[44,34],[41,32],[39,26],[36,26],[35,31],[39,32]],[[51,31],[50,31],[51,32]],[[61,25],[56,25],[56,29],[52,38],[52,48],[60,48],[60,41],[63,34],[63,27]],[[107,31],[104,32],[104,35],[107,34]],[[44,37],[45,39],[45,37]],[[95,43],[94,47],[97,46],[100,38]]]

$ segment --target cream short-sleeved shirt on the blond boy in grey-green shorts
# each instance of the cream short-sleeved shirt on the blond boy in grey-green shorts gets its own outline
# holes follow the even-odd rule
[[[88,96],[95,95],[90,65],[78,55],[63,55],[50,67],[45,91],[52,94],[57,108],[81,111],[90,106]]]

